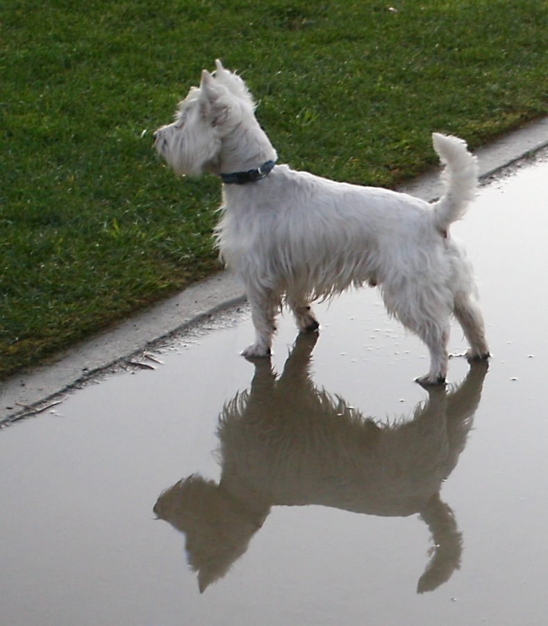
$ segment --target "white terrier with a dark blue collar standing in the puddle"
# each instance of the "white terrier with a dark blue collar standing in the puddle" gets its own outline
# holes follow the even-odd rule
[[[433,204],[274,166],[276,150],[244,81],[216,65],[154,138],[176,174],[210,172],[224,182],[217,246],[244,284],[256,330],[242,354],[269,355],[284,304],[300,330],[315,330],[310,302],[368,283],[428,346],[430,370],[418,382],[445,380],[451,314],[470,342],[468,358],[488,358],[472,268],[449,235],[476,193],[476,159],[465,142],[433,134],[446,166],[445,194]]]

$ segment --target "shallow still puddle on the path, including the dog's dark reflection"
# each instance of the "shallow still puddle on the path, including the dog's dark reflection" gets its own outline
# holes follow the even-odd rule
[[[547,179],[526,164],[452,228],[493,357],[451,359],[447,392],[365,289],[316,307],[315,345],[284,318],[272,368],[229,314],[4,428],[2,622],[544,625]]]

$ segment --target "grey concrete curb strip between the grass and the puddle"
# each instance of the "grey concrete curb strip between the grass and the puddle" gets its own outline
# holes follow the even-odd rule
[[[548,145],[548,118],[476,150],[480,176],[488,177]],[[439,198],[438,172],[401,188],[424,200]],[[244,292],[229,273],[185,289],[113,330],[103,332],[58,355],[53,364],[0,383],[0,425],[43,409],[54,396],[81,385],[99,371],[140,353],[147,347],[203,321],[218,310],[243,303]]]

